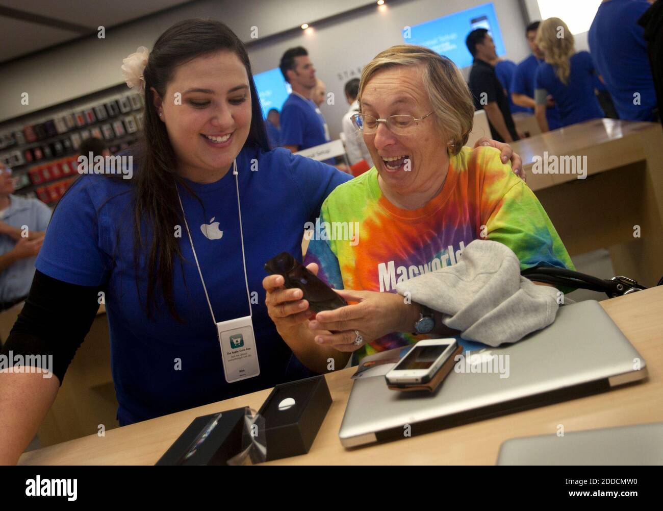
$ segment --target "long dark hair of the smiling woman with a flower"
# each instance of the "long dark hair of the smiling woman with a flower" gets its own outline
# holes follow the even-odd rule
[[[180,265],[183,263],[179,241],[174,236],[175,226],[183,225],[176,183],[181,183],[194,194],[176,173],[177,159],[168,139],[166,126],[160,121],[158,111],[154,108],[151,88],[154,87],[159,96],[164,98],[166,87],[172,80],[177,66],[221,50],[236,54],[249,76],[251,127],[245,147],[251,145],[269,151],[249,55],[237,35],[220,21],[210,19],[180,21],[162,33],[154,43],[143,71],[145,122],[143,137],[135,151],[138,167],[131,180],[134,195],[134,263],[137,272],[140,261],[147,265],[145,307],[148,317],[152,316],[152,312],[157,307],[156,296],[161,291],[168,312],[181,321],[173,295],[174,265],[177,259]],[[145,243],[146,233],[141,230],[143,226],[151,237],[149,248]]]

